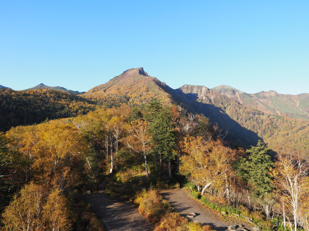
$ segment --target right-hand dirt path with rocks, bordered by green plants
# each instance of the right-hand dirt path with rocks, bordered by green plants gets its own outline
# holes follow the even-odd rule
[[[219,231],[228,230],[228,225],[235,225],[236,230],[242,230],[244,227],[251,230],[251,225],[248,223],[237,218],[231,220],[229,217],[223,217],[218,214],[218,211],[207,208],[200,202],[195,201],[184,188],[161,191],[160,193],[181,216],[185,217],[188,213],[195,213],[196,217],[189,218],[192,221],[199,221],[203,225],[212,225],[214,229]],[[241,227],[240,224],[244,226]]]

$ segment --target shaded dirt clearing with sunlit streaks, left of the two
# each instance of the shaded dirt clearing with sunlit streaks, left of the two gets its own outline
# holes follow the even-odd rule
[[[109,197],[103,192],[87,195],[107,231],[151,231],[153,227],[129,201]]]

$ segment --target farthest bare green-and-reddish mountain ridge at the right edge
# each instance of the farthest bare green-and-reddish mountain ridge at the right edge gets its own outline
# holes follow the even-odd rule
[[[261,91],[248,94],[233,87],[221,85],[212,88],[219,93],[236,100],[244,106],[265,113],[309,120],[309,94],[283,95],[276,91]]]

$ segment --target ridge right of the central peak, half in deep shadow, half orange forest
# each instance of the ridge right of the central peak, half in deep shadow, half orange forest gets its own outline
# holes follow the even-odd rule
[[[227,130],[231,143],[255,142],[261,137],[273,148],[309,148],[309,121],[264,113],[204,86],[184,85],[176,90],[198,113],[209,117]],[[239,127],[241,126],[241,128]],[[248,130],[254,132],[253,135]]]

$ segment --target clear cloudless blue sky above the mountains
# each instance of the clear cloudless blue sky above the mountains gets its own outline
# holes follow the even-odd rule
[[[144,67],[172,88],[309,93],[309,1],[0,1],[0,84],[88,91]]]

